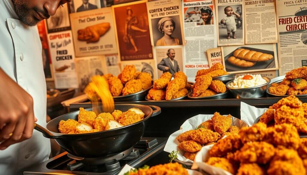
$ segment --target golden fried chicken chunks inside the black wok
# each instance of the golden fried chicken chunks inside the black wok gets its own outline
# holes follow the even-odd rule
[[[130,108],[126,112],[114,110],[114,112],[103,112],[96,116],[93,111],[86,111],[80,108],[78,121],[68,119],[61,120],[59,131],[63,134],[83,134],[90,132],[106,131],[136,123],[144,119],[144,113],[141,109]]]

